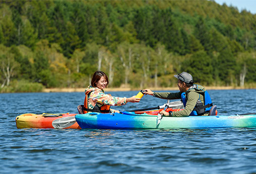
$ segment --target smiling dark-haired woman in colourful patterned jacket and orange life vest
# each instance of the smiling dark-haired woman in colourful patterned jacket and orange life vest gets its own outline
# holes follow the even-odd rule
[[[83,113],[87,112],[101,112],[113,113],[119,111],[110,109],[111,106],[125,105],[128,102],[140,102],[141,99],[135,98],[121,98],[112,97],[111,95],[104,94],[104,89],[107,88],[108,77],[102,71],[94,72],[91,80],[91,85],[85,90],[85,102]]]

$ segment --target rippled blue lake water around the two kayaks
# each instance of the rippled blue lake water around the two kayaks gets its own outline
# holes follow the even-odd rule
[[[138,92],[110,92],[131,97]],[[219,115],[255,113],[256,90],[212,90]],[[17,129],[24,113],[77,113],[84,93],[0,94],[0,173],[256,173],[256,128]],[[131,110],[166,101],[144,96]]]

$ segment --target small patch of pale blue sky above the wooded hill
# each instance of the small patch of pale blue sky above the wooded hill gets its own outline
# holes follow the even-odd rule
[[[256,0],[214,0],[216,3],[222,5],[226,3],[227,6],[232,5],[233,7],[237,7],[239,12],[241,10],[246,9],[252,14],[256,14]]]

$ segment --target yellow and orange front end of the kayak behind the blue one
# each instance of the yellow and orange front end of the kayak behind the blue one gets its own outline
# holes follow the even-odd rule
[[[76,114],[22,114],[16,117],[16,126],[22,128],[52,128],[52,121],[63,117],[74,117]],[[81,129],[77,122],[66,129]]]

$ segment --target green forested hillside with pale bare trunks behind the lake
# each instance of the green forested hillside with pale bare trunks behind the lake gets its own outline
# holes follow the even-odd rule
[[[0,1],[0,93],[195,83],[256,88],[256,15],[214,1]]]

